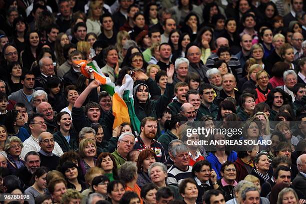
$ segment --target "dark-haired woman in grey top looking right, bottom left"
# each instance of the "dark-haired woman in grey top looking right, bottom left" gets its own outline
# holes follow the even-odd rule
[[[29,195],[28,203],[34,204],[34,199],[47,193],[47,183],[46,183],[47,169],[45,167],[39,167],[32,174],[30,183],[32,184],[24,190],[24,193]]]

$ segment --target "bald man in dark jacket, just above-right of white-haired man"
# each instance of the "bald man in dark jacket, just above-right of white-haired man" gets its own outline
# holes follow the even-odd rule
[[[201,81],[204,81],[208,68],[201,61],[201,50],[196,45],[187,46],[186,54],[186,57],[190,62],[188,73],[195,72],[200,76]]]

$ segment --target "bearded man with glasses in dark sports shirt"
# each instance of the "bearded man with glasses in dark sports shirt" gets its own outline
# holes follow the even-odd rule
[[[133,149],[142,151],[144,149],[152,149],[156,155],[156,162],[166,162],[165,153],[160,142],[154,138],[157,132],[157,120],[154,117],[145,117],[140,124],[141,133],[135,139]]]

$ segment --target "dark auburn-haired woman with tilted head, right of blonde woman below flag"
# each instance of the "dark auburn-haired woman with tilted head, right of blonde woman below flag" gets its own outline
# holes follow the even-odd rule
[[[118,179],[117,164],[110,153],[100,153],[96,160],[96,166],[104,170],[104,175],[107,176],[110,181]]]

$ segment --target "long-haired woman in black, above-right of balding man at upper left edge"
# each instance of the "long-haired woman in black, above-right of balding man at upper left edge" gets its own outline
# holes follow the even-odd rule
[[[24,50],[20,53],[20,63],[23,69],[30,70],[32,63],[37,57],[36,49],[39,46],[39,35],[36,31],[26,34],[24,41]]]

